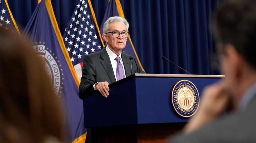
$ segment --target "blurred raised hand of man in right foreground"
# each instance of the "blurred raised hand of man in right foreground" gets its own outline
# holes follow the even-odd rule
[[[226,109],[230,96],[225,93],[223,83],[206,87],[202,92],[202,101],[198,111],[191,121],[185,126],[184,131],[190,133],[203,125],[217,119]]]

